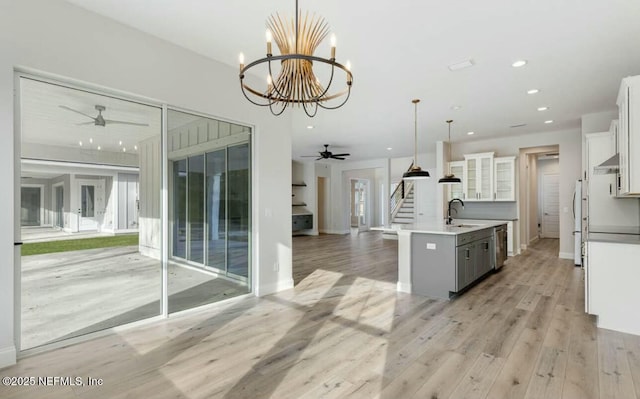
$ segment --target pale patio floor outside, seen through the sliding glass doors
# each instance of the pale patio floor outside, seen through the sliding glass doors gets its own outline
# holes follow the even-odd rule
[[[169,312],[247,293],[244,285],[169,264]],[[161,263],[137,246],[22,257],[21,349],[157,316]]]

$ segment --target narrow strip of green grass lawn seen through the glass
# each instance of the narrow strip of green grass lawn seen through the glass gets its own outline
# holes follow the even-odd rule
[[[138,245],[137,234],[26,243],[22,245],[22,256],[80,251],[83,249],[125,247],[128,245]]]

